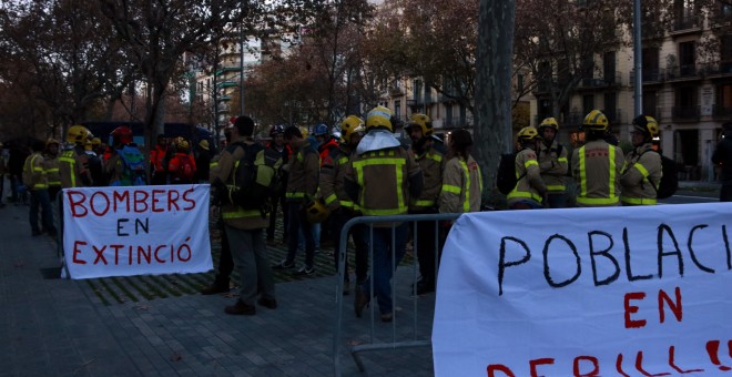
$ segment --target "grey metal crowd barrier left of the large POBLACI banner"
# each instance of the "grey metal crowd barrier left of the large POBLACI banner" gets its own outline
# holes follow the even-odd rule
[[[346,264],[346,257],[347,257],[347,245],[348,245],[348,234],[352,231],[352,227],[358,224],[367,224],[368,230],[367,230],[367,241],[368,241],[368,276],[374,276],[374,224],[375,223],[390,223],[390,230],[392,230],[392,249],[395,249],[395,230],[396,230],[396,224],[397,223],[409,223],[411,225],[411,228],[415,230],[415,234],[418,234],[419,227],[417,222],[434,222],[435,226],[435,278],[437,278],[437,272],[439,268],[439,254],[438,249],[440,247],[440,242],[439,242],[439,233],[440,233],[440,222],[443,221],[455,221],[457,217],[459,217],[459,213],[443,213],[443,214],[424,214],[424,215],[398,215],[398,216],[362,216],[362,217],[354,217],[346,222],[343,226],[343,230],[340,231],[340,244],[339,244],[339,257],[338,257],[338,281],[336,284],[336,318],[335,318],[335,328],[333,333],[333,366],[334,366],[334,371],[335,376],[340,377],[340,347],[346,347],[346,345],[343,342],[343,329],[344,329],[344,312],[343,312],[343,305],[344,305],[344,295],[343,295],[343,284],[344,284],[344,277],[346,274],[345,271],[345,264]],[[392,253],[392,265],[394,266],[393,271],[393,278],[392,278],[392,307],[394,310],[394,318],[389,323],[392,327],[392,336],[390,336],[390,342],[385,342],[383,338],[377,338],[375,333],[376,333],[376,323],[375,323],[375,314],[374,314],[374,308],[376,307],[376,299],[373,296],[374,293],[374,279],[370,278],[370,289],[369,292],[372,293],[370,297],[370,304],[369,304],[369,312],[370,312],[370,324],[369,324],[369,333],[370,333],[370,342],[366,342],[363,344],[358,345],[353,345],[348,346],[350,347],[349,351],[352,357],[354,358],[354,361],[358,366],[358,369],[360,371],[365,371],[366,367],[359,356],[360,353],[363,351],[369,351],[369,350],[386,350],[386,349],[404,349],[404,348],[414,348],[414,347],[430,347],[431,346],[431,339],[426,338],[426,339],[420,339],[417,335],[417,316],[418,316],[418,310],[417,310],[417,300],[418,296],[416,294],[417,289],[417,276],[418,276],[418,269],[417,269],[417,249],[419,245],[419,237],[413,237],[413,245],[414,245],[414,258],[411,262],[411,265],[409,266],[413,269],[413,273],[410,275],[411,282],[408,282],[408,284],[414,283],[413,288],[411,288],[411,295],[409,299],[411,300],[411,317],[406,318],[409,319],[408,322],[403,318],[398,318],[396,314],[396,302],[397,302],[397,293],[396,293],[396,287],[398,284],[404,284],[404,282],[398,282],[397,275],[396,275],[396,268],[398,267],[395,263],[395,253]],[[353,268],[354,266],[352,266]],[[355,298],[355,294],[352,296],[345,296],[347,299],[350,302]],[[399,299],[404,299],[404,296],[398,297]],[[434,310],[434,308],[430,308]],[[356,318],[354,314],[350,314],[348,316],[348,320],[363,320],[365,318]],[[410,336],[401,336],[404,328],[399,327],[400,324],[405,323],[410,323],[411,324],[411,332]],[[399,335],[398,335],[399,334]],[[363,334],[360,334],[363,335]],[[401,338],[399,338],[401,336]]]

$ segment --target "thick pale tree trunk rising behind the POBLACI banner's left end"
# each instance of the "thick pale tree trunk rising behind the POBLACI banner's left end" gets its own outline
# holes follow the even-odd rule
[[[514,0],[480,0],[476,60],[474,156],[490,192],[501,153],[511,152]]]

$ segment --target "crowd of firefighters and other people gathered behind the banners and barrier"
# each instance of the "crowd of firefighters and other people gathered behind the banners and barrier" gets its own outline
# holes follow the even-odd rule
[[[508,207],[566,207],[570,179],[577,186],[575,203],[580,207],[655,204],[662,177],[661,156],[647,152],[654,149],[658,122],[647,115],[633,120],[633,149],[627,154],[609,137],[608,126],[602,112],[591,111],[582,122],[584,144],[571,154],[556,140],[556,119],[545,119],[538,128],[521,129],[515,157],[517,183],[507,194]],[[325,124],[314,125],[312,132],[296,125],[273,125],[270,140],[262,143],[254,137],[255,122],[242,115],[225,131],[226,143],[215,156],[209,154],[206,140],[192,147],[192,142],[183,137],[169,140],[161,135],[146,160],[126,126],[111,133],[112,145],[108,146],[84,126],[73,125],[67,132],[65,143],[53,139],[35,142],[31,153],[21,156],[20,170],[16,156],[11,164],[6,164],[4,159],[0,161],[0,173],[10,170],[14,200],[20,201],[21,191],[28,192],[31,234],[55,236],[52,203],[63,187],[144,185],[148,176],[150,184],[211,183],[213,188],[224,182],[231,186],[247,153],[256,154],[252,161],[266,160],[267,153],[275,155],[277,162],[272,166],[282,184],[270,193],[265,211],[214,202],[221,213],[221,258],[214,282],[202,289],[204,295],[228,292],[231,274],[237,268],[240,296],[225,313],[253,315],[256,304],[277,307],[273,269],[301,276],[315,273],[314,255],[321,233],[333,237],[337,269],[339,258],[346,254],[339,251],[340,231],[353,217],[480,211],[481,170],[470,153],[472,137],[467,130],[454,130],[441,140],[435,134],[430,118],[416,113],[404,125],[407,145],[395,136],[396,128],[392,111],[376,106],[365,119],[346,116],[333,131]],[[732,124],[725,125],[725,132],[732,133]],[[732,165],[732,161],[725,163],[732,160],[729,143],[720,143],[713,157],[724,167]],[[723,188],[723,196],[730,196],[728,188]],[[279,211],[287,254],[273,263],[267,245],[275,242]],[[350,230],[355,266],[345,262],[344,294],[350,293],[353,277],[356,316],[375,297],[380,319],[393,319],[390,281],[408,243],[414,245],[419,262],[415,294],[435,291],[439,252],[451,226],[445,222],[435,224],[376,223],[370,234],[363,224]],[[369,243],[374,249],[372,274]],[[298,251],[304,251],[301,264]]]

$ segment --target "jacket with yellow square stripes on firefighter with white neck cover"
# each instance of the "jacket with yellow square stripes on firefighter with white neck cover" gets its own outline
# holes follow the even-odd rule
[[[364,215],[404,215],[408,212],[409,197],[418,197],[421,192],[423,175],[414,156],[397,145],[355,154],[346,169],[345,184]]]

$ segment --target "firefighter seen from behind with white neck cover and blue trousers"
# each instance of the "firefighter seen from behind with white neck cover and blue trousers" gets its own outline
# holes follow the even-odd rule
[[[366,216],[404,215],[409,197],[419,197],[423,174],[419,164],[394,136],[393,113],[376,106],[366,115],[366,132],[352,163],[346,169],[345,190]],[[372,296],[376,296],[382,322],[392,322],[392,276],[401,261],[408,224],[376,223],[373,227],[373,275],[356,286],[354,310],[360,317]],[[393,237],[394,235],[394,237]],[[374,279],[370,292],[369,279]]]

